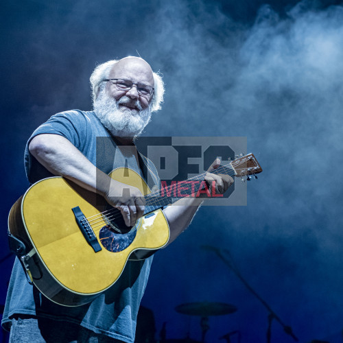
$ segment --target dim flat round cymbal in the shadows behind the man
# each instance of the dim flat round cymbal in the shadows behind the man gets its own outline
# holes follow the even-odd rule
[[[233,314],[237,307],[224,303],[187,303],[175,307],[179,314],[188,314],[189,316],[222,316],[224,314]]]

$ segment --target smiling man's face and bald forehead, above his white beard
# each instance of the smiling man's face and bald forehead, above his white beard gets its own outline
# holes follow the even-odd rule
[[[123,91],[111,81],[106,84],[106,92],[110,97],[113,97],[119,105],[119,110],[130,111],[131,114],[137,113],[139,110],[149,106],[152,95],[141,95],[137,91],[136,84],[145,84],[154,88],[154,77],[152,69],[147,62],[141,58],[123,58],[119,60],[115,67],[110,71],[109,79],[124,79],[134,82],[132,88],[128,91]],[[127,97],[125,101],[122,97]]]

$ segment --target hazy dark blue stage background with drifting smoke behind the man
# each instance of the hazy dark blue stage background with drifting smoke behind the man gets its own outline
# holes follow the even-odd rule
[[[145,58],[163,73],[163,110],[146,136],[243,136],[264,171],[248,206],[203,207],[155,255],[143,305],[156,339],[200,340],[182,303],[216,301],[207,342],[239,330],[265,342],[268,311],[210,251],[228,249],[241,274],[300,342],[342,342],[343,7],[340,1],[1,2],[1,257],[10,206],[27,181],[23,150],[54,113],[91,109],[97,63]],[[0,303],[13,257],[1,263]],[[235,338],[233,338],[233,342]],[[292,342],[277,322],[272,342]]]

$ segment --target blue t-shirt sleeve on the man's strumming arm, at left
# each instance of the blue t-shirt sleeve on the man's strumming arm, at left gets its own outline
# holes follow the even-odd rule
[[[29,137],[25,148],[24,163],[27,180],[32,184],[43,178],[53,176],[29,152],[29,143],[34,137],[38,134],[59,134],[81,150],[81,144],[87,135],[87,124],[88,119],[81,111],[71,110],[57,113],[40,125]]]

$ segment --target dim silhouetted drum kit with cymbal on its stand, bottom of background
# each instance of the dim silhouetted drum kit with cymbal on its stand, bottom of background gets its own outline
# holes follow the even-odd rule
[[[210,316],[224,316],[226,314],[233,314],[237,311],[237,307],[225,303],[185,303],[176,306],[176,312],[179,314],[185,314],[187,316],[198,316],[200,317],[200,327],[202,332],[202,340],[192,340],[190,337],[179,339],[179,340],[166,340],[165,337],[161,337],[161,343],[204,343],[207,331],[209,331],[209,317]],[[236,333],[238,331],[233,331]],[[161,335],[163,336],[163,335]],[[222,337],[226,339],[227,343],[230,343],[230,335],[224,335]]]

